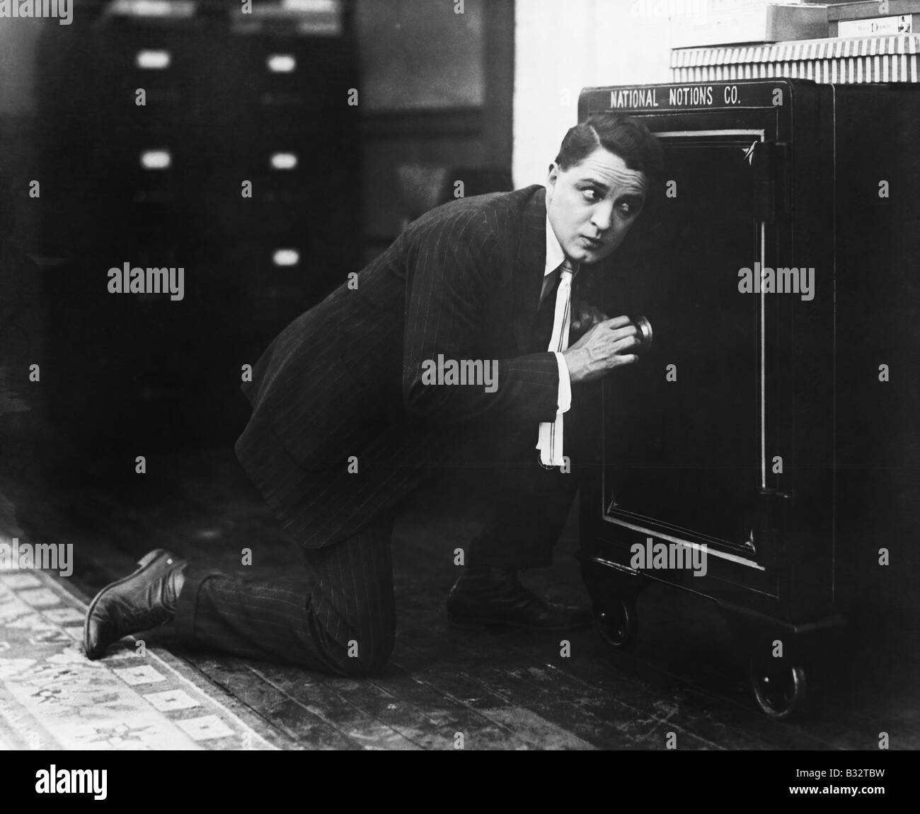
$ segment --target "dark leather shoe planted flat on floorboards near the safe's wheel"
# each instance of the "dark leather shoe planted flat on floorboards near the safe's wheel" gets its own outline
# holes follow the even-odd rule
[[[467,570],[447,597],[447,619],[454,627],[530,627],[575,630],[592,625],[590,608],[548,602],[527,590],[517,572],[503,568]]]

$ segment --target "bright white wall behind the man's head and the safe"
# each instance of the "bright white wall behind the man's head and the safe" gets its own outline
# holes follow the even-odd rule
[[[667,6],[643,0],[517,0],[514,186],[540,184],[577,120],[582,87],[670,80]],[[656,13],[657,12],[657,13]]]

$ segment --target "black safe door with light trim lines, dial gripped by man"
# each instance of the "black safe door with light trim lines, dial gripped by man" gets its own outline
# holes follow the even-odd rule
[[[585,91],[582,118],[609,109],[608,94]],[[646,315],[653,343],[604,380],[603,465],[582,493],[583,518],[599,511],[601,522],[582,522],[582,534],[621,571],[749,605],[759,594],[772,611],[783,315],[759,278],[788,248],[776,220],[788,205],[788,116],[754,105],[628,113],[661,140],[665,178],[615,258],[604,304]]]

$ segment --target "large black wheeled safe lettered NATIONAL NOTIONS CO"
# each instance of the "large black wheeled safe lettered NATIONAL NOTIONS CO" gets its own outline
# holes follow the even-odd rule
[[[604,380],[582,573],[617,647],[650,580],[718,602],[772,717],[848,617],[916,610],[918,91],[581,92],[580,120],[635,117],[665,158],[604,282],[654,342]]]

